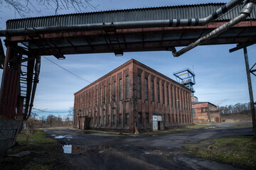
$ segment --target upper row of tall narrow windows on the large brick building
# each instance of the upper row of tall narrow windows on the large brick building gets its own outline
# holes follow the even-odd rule
[[[114,81],[113,84],[113,95],[111,93],[111,84],[108,84],[108,102],[110,103],[111,101],[116,101],[116,94],[117,94],[117,83],[116,81]],[[144,79],[144,98],[145,100],[149,100],[149,84],[148,84],[148,79],[145,78]],[[122,79],[119,79],[119,100],[122,100],[122,93],[123,93],[123,89],[122,89]],[[151,101],[155,101],[154,99],[154,81],[151,81]],[[96,91],[96,93],[95,93]],[[104,86],[103,88],[103,98],[102,98],[102,87],[100,87],[100,104],[101,103],[105,103],[106,101],[106,91],[107,91],[107,87]],[[92,96],[91,96],[91,92],[92,92]],[[163,103],[165,103],[165,93],[164,93],[164,84],[162,84],[162,88],[161,88],[161,92],[162,92],[162,101]],[[159,87],[159,81],[157,81],[156,83],[156,93],[157,93],[157,102],[160,102],[160,87]],[[96,94],[96,96],[95,96]],[[176,94],[176,89],[174,89],[174,95]],[[85,105],[87,107],[91,106],[91,102],[93,105],[93,102],[97,105],[97,101],[98,101],[98,89],[97,88],[92,88],[89,89],[88,92],[86,91],[86,98],[90,97],[92,98],[92,100],[87,100],[87,102],[85,102]],[[169,86],[166,86],[166,98],[167,98],[167,104],[169,104]],[[171,91],[171,95],[172,95],[172,91]],[[137,76],[137,96],[139,99],[142,98],[142,77],[140,77],[139,75]],[[79,105],[82,103],[82,98],[85,99],[85,94],[80,94],[78,96],[76,96],[75,98],[75,103],[77,103]],[[125,98],[129,98],[129,76],[125,77]],[[175,98],[177,98],[177,96],[175,95]],[[176,100],[175,100],[176,101]],[[171,100],[171,105],[173,105],[173,101]],[[176,102],[174,103],[174,105],[176,106]]]

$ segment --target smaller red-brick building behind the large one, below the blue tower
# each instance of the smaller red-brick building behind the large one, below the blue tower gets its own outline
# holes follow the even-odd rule
[[[193,123],[221,122],[220,111],[210,102],[192,102]]]

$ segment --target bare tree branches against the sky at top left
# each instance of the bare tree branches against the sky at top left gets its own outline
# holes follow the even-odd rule
[[[55,11],[74,9],[75,12],[82,12],[87,8],[97,9],[92,0],[0,0],[2,8],[14,8],[21,17],[29,16],[29,13],[41,12],[37,6]],[[0,8],[1,10],[1,8]]]

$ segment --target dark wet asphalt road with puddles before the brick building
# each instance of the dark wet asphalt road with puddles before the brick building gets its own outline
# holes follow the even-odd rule
[[[188,156],[183,147],[211,138],[252,135],[252,128],[228,129],[235,123],[164,135],[85,134],[80,130],[46,130],[64,146],[70,169],[242,169]]]

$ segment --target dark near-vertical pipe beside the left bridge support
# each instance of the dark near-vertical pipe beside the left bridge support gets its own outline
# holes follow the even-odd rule
[[[35,76],[34,76],[34,80],[33,80],[33,89],[32,89],[32,94],[31,94],[31,102],[29,104],[29,111],[28,111],[28,115],[26,116],[26,118],[28,119],[31,115],[31,111],[33,108],[33,100],[35,98],[35,94],[36,94],[36,86],[38,84],[38,78],[39,78],[39,73],[40,73],[40,67],[41,67],[41,56],[36,56],[36,65],[35,65]]]

